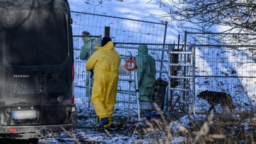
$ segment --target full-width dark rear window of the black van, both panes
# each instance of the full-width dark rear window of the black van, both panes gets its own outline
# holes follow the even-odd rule
[[[66,13],[14,10],[1,15],[0,60],[9,65],[60,65],[67,59]]]

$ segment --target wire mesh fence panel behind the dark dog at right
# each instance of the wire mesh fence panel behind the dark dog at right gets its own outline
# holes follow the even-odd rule
[[[231,96],[236,111],[254,109],[255,36],[234,33],[188,33],[187,44],[195,45],[194,95],[205,91],[222,92],[226,93],[225,97],[227,94]],[[235,37],[243,38],[244,42],[237,42],[234,40]],[[250,38],[251,40],[248,40]],[[219,94],[214,93],[210,96],[220,100],[212,98],[208,101],[212,101],[220,113],[224,110],[221,106],[225,105],[223,101],[225,102],[226,98],[220,97]],[[209,102],[198,97],[195,99],[196,112],[205,112],[211,107]]]

